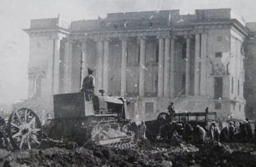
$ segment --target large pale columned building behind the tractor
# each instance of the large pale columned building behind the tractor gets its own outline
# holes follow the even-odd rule
[[[131,117],[156,118],[209,107],[244,118],[244,43],[249,34],[231,9],[107,14],[71,23],[31,20],[29,96],[52,106],[53,94],[78,92],[87,68],[96,92],[130,99]]]

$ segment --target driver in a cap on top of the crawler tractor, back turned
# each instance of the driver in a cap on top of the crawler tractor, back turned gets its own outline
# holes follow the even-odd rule
[[[83,79],[83,85],[80,90],[86,93],[86,101],[91,101],[95,94],[95,79],[93,76],[93,70],[88,68],[88,75]]]

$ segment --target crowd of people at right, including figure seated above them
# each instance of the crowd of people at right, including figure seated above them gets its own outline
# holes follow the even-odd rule
[[[170,117],[175,114],[173,102],[168,106],[168,112]],[[206,114],[208,113],[207,107]],[[256,128],[254,128],[254,134],[256,138]],[[203,124],[196,124],[196,122],[191,124],[187,120],[182,123],[169,121],[165,126],[162,126],[161,138],[169,139],[173,136],[182,136],[186,141],[197,142],[204,142],[207,137],[212,141],[247,142],[253,139],[253,122],[249,121],[248,118],[242,122],[221,122],[219,120],[212,122],[208,127],[204,127]]]

